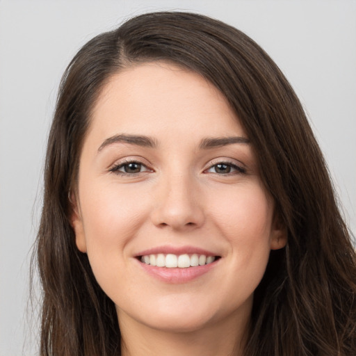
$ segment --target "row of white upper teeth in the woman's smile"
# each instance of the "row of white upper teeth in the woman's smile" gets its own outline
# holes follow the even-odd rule
[[[206,256],[205,254],[147,254],[141,257],[141,262],[150,264],[151,266],[167,267],[167,268],[188,268],[211,264],[215,261],[215,257]]]

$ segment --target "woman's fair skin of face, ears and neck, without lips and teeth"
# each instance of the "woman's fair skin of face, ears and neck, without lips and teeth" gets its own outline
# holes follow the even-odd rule
[[[148,136],[156,147],[108,140],[122,134]],[[124,355],[241,353],[254,289],[286,234],[252,145],[200,147],[206,138],[236,136],[248,139],[225,97],[175,65],[129,67],[99,96],[72,225],[115,302]],[[140,163],[139,172],[124,172],[128,161]],[[162,245],[203,248],[220,259],[191,281],[164,282],[136,258]]]

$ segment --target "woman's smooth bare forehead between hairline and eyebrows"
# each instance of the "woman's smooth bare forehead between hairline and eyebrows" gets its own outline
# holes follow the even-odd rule
[[[91,131],[149,136],[184,129],[231,136],[243,129],[225,96],[200,74],[169,63],[144,63],[113,74],[92,110]]]

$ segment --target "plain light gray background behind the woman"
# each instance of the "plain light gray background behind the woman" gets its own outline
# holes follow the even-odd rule
[[[305,105],[356,226],[356,1],[0,0],[0,355],[34,355],[26,314],[42,163],[60,76],[79,47],[151,10],[195,10],[245,31]],[[25,346],[24,346],[25,344]]]

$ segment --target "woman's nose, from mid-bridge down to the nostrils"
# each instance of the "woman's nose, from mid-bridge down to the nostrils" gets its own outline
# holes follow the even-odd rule
[[[157,227],[186,230],[204,223],[204,202],[197,182],[188,175],[160,179],[154,192],[152,222]]]

